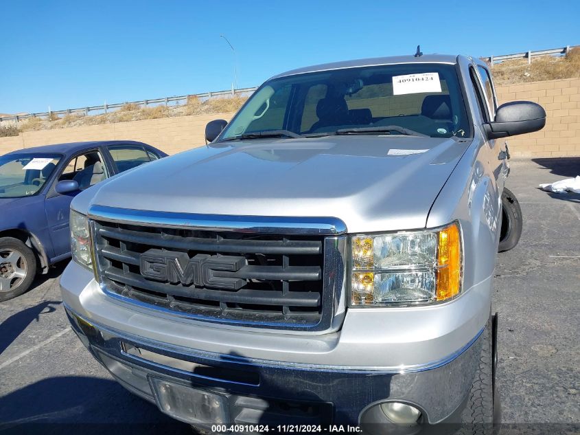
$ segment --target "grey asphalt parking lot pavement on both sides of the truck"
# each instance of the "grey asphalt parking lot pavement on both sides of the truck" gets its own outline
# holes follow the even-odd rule
[[[537,188],[576,175],[580,157],[511,161],[507,186],[524,230],[518,247],[498,255],[493,301],[507,423],[579,424],[580,194]],[[64,267],[0,303],[0,433],[51,422],[139,423],[148,433],[171,424],[172,434],[191,434],[119,386],[82,346],[60,299]]]

